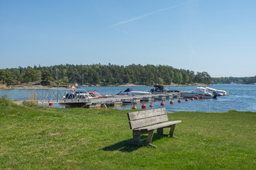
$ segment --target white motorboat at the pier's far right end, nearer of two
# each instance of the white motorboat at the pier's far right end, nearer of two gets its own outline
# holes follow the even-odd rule
[[[210,92],[205,87],[197,87],[196,89],[193,89],[192,91],[181,91],[180,92],[181,97],[183,98],[194,98],[198,97],[200,98],[203,96],[203,98],[216,98],[217,93],[216,92]]]

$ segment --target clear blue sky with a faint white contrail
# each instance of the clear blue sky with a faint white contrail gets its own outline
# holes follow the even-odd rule
[[[0,69],[165,64],[256,75],[256,1],[0,0]]]

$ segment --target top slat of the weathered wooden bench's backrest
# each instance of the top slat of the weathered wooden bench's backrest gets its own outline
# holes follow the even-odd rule
[[[164,115],[166,114],[166,108],[157,108],[151,109],[148,111],[137,111],[137,112],[130,112],[128,113],[129,120],[137,120],[142,118],[149,118],[156,115]]]

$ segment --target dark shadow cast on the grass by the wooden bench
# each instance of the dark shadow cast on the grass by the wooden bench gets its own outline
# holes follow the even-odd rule
[[[142,142],[146,142],[146,137],[147,137],[147,135],[142,135],[141,136]],[[152,143],[155,140],[161,139],[162,137],[163,137],[162,135],[154,133]],[[116,143],[114,145],[110,145],[108,147],[104,147],[104,148],[102,148],[102,150],[104,150],[104,151],[133,152],[134,150],[137,150],[141,147],[145,147],[145,145],[130,145],[130,144],[127,143],[127,141],[132,141],[132,138],[129,139],[129,140],[123,140],[122,142],[118,142],[118,143]]]

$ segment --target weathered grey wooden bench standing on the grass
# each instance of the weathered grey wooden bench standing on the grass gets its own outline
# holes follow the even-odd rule
[[[127,113],[127,115],[133,135],[133,140],[128,143],[132,145],[154,146],[151,145],[151,142],[155,129],[157,129],[157,133],[164,135],[164,128],[171,128],[168,136],[173,137],[176,124],[181,123],[181,120],[169,121],[166,108],[131,112]],[[148,133],[146,143],[141,142],[141,135],[146,133]]]

